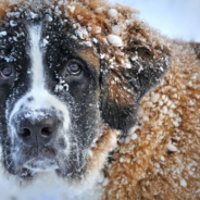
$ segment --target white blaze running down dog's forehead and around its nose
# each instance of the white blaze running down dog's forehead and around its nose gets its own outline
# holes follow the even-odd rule
[[[30,36],[30,59],[32,59],[32,88],[15,103],[11,115],[9,117],[9,124],[12,124],[12,118],[17,113],[22,105],[25,105],[30,112],[32,120],[37,120],[41,116],[41,112],[35,112],[40,109],[50,109],[54,107],[57,111],[61,111],[64,116],[63,130],[66,132],[70,127],[70,113],[66,105],[58,99],[55,96],[50,93],[46,88],[42,52],[40,48],[40,35],[41,25],[29,27]],[[34,101],[28,102],[28,98],[34,98]],[[15,128],[11,128],[12,137],[15,136]]]

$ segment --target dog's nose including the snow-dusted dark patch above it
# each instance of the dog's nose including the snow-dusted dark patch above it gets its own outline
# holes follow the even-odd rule
[[[25,145],[46,146],[49,143],[62,125],[61,114],[58,116],[49,110],[23,111],[13,116],[16,137]]]

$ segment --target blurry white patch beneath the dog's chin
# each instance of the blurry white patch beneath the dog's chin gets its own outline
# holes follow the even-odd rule
[[[102,192],[101,185],[91,187],[85,184],[82,188],[74,189],[53,172],[41,174],[30,185],[20,185],[13,176],[5,176],[1,171],[0,180],[2,200],[100,200]],[[109,183],[108,179],[103,182],[105,185]]]

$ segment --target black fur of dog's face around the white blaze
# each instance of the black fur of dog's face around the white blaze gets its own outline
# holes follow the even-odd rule
[[[32,177],[32,170],[38,167],[34,166],[34,163],[29,163],[29,161],[38,158],[52,160],[59,166],[57,171],[62,176],[70,179],[80,178],[87,168],[87,150],[91,146],[101,123],[96,121],[99,116],[97,105],[99,100],[99,72],[78,55],[78,51],[83,51],[84,47],[79,45],[78,39],[73,39],[73,23],[58,15],[58,13],[52,14],[51,12],[54,13],[53,10],[47,10],[43,13],[38,11],[38,17],[33,20],[28,15],[28,11],[22,11],[21,9],[18,18],[10,14],[10,17],[5,18],[5,25],[1,27],[2,30],[11,30],[8,36],[0,38],[1,62],[7,62],[8,57],[9,61],[15,66],[16,72],[14,78],[9,80],[0,79],[0,93],[2,93],[0,108],[3,111],[2,114],[5,115],[5,112],[8,112],[9,117],[17,100],[29,91],[32,87],[30,67],[33,63],[29,55],[28,28],[33,25],[42,25],[40,48],[43,53],[46,88],[52,96],[65,103],[71,116],[70,129],[66,133],[62,133],[63,116],[58,113],[60,128],[55,132],[53,139],[45,146],[37,142],[35,145],[25,143],[20,137],[14,137],[12,143],[11,137],[13,136],[8,132],[8,122],[5,118],[1,118],[2,129],[4,130],[2,135],[4,166],[11,174],[18,175],[24,179]],[[48,21],[47,14],[51,16],[52,21]],[[11,20],[13,27],[9,25]],[[21,40],[9,40],[12,34],[12,38],[14,38],[16,32],[24,33]],[[45,39],[46,42],[43,42]],[[78,76],[66,74],[64,61],[71,59],[78,60],[82,63],[82,73]],[[62,85],[62,82],[65,85]],[[55,90],[58,85],[61,85],[63,89]],[[26,98],[27,103],[33,101],[35,101],[33,97]],[[9,107],[7,108],[5,104]],[[49,108],[49,111],[43,111],[45,116],[41,115],[40,121],[43,121],[42,117],[48,117],[50,111],[58,112],[55,109]],[[21,107],[21,111],[13,116],[14,123],[12,123],[16,129],[16,124],[21,124],[26,112],[28,113],[26,104],[24,104]],[[30,122],[32,118],[28,117],[27,120]],[[70,147],[62,139],[62,135],[67,136],[70,139]],[[70,148],[68,154],[63,151],[66,148]],[[20,157],[14,159],[13,154],[18,154]],[[28,166],[25,166],[26,163],[28,163]]]

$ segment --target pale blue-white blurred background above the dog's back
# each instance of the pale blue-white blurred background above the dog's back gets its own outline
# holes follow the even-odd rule
[[[170,38],[200,42],[200,0],[110,0],[140,11],[140,18]]]

